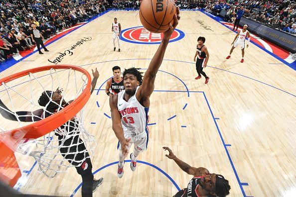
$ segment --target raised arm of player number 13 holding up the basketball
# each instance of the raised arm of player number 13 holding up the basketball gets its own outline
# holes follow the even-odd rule
[[[179,7],[177,7],[177,14],[179,14]],[[171,24],[169,24],[169,29],[165,32],[163,32],[163,38],[162,41],[157,49],[157,51],[155,52],[149,67],[144,75],[144,79],[143,79],[143,83],[142,86],[139,88],[138,92],[137,92],[137,99],[141,102],[141,104],[143,104],[144,106],[148,106],[149,103],[145,103],[148,98],[150,97],[150,95],[152,94],[153,90],[154,90],[154,81],[155,81],[155,77],[156,77],[156,73],[161,65],[161,62],[163,60],[163,56],[168,44],[168,41],[171,37],[171,34],[173,33],[174,29],[176,28],[176,26],[178,25],[178,18],[177,14],[174,15],[174,24],[173,26]]]

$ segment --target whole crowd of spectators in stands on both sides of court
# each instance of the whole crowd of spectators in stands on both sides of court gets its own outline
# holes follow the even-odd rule
[[[30,36],[35,24],[45,39],[108,8],[139,9],[142,0],[0,0],[0,61],[35,46]],[[205,8],[213,14],[227,11],[234,23],[243,17],[296,35],[296,4],[292,0],[175,0],[181,9]]]

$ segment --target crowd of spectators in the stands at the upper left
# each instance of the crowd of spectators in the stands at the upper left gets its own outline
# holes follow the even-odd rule
[[[48,39],[112,6],[113,0],[0,0],[0,61],[35,47],[35,24]]]

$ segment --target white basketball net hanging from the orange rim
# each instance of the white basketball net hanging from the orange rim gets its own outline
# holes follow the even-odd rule
[[[42,72],[43,76],[41,77],[36,76],[37,74],[40,74],[40,72],[29,73],[25,76],[28,77],[26,85],[29,85],[30,88],[30,93],[27,95],[22,95],[20,90],[15,90],[17,85],[9,86],[9,83],[2,83],[2,87],[9,98],[10,108],[8,108],[11,111],[1,106],[0,109],[4,110],[9,115],[15,116],[19,127],[28,124],[28,122],[21,121],[24,117],[30,118],[33,122],[35,122],[37,121],[37,118],[46,119],[45,113],[53,114],[47,110],[50,102],[53,102],[58,106],[56,112],[62,110],[66,107],[62,105],[62,100],[75,100],[79,95],[81,95],[87,83],[89,83],[84,73],[79,73],[78,71],[72,69],[62,71],[50,69],[45,72]],[[81,74],[81,76],[76,77],[77,73]],[[61,79],[61,75],[63,75],[63,79]],[[46,81],[44,81],[44,76],[47,76]],[[50,76],[51,80],[49,80],[48,76]],[[65,76],[68,76],[67,80],[64,80]],[[41,82],[41,80],[43,82]],[[49,98],[49,102],[44,107],[40,106],[38,102],[36,102],[36,99],[38,99],[44,91],[50,90],[55,92],[57,87],[62,88],[62,91],[60,92],[60,95],[62,96],[60,103],[53,101],[51,99],[51,94],[46,94]],[[22,98],[23,101],[28,103],[27,105],[24,104],[22,109],[19,106],[15,106],[15,102],[18,98]],[[24,108],[24,106],[29,107]],[[33,111],[40,108],[43,109],[41,117],[33,115]],[[24,110],[31,111],[32,115],[16,114],[16,111]],[[85,106],[71,120],[68,120],[65,124],[60,125],[55,130],[42,137],[33,140],[31,139],[26,143],[20,144],[16,152],[32,156],[38,164],[38,171],[43,173],[48,178],[55,177],[58,173],[66,172],[69,167],[81,166],[85,159],[93,156],[94,148],[96,146],[95,137],[89,134],[85,129],[83,124],[84,116]],[[7,129],[2,128],[0,130]]]

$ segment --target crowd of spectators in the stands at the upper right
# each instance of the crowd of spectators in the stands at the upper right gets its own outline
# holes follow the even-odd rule
[[[227,10],[225,20],[234,23],[237,12],[243,6],[243,16],[271,26],[275,29],[296,34],[296,3],[291,0],[207,0],[206,10],[219,14]]]

